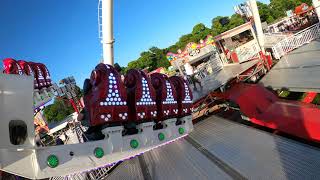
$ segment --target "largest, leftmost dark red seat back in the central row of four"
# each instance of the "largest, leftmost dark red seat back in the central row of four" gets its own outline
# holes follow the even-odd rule
[[[127,95],[120,74],[110,65],[98,64],[90,77],[85,108],[92,126],[128,120]]]

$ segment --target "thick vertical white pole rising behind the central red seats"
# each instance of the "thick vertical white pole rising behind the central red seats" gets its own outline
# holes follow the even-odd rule
[[[101,0],[101,3],[103,63],[113,65],[113,0]]]

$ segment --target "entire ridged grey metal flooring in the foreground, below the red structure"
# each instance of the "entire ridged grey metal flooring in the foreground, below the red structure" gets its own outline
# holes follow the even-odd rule
[[[196,124],[185,140],[142,157],[125,161],[107,179],[320,177],[320,149],[216,116]]]

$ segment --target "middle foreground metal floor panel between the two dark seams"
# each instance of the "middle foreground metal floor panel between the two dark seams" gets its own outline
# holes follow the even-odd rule
[[[231,179],[186,140],[144,154],[151,179]]]

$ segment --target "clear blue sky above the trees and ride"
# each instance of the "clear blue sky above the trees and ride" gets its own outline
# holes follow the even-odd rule
[[[264,0],[266,2],[268,0]],[[197,23],[231,15],[242,0],[114,0],[115,62],[168,47]],[[74,75],[82,86],[102,56],[98,0],[1,0],[0,59],[47,65],[54,81]]]

